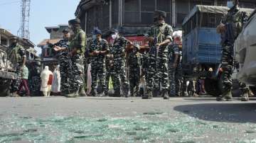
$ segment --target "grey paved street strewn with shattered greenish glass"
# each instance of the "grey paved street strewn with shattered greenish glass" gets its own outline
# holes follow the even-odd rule
[[[0,142],[256,142],[255,101],[0,98]]]

